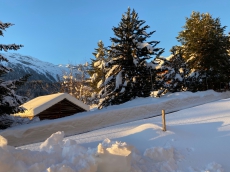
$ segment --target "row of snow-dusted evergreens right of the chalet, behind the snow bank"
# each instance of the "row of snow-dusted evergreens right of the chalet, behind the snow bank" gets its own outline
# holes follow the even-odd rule
[[[176,37],[168,58],[161,57],[159,41],[150,40],[155,31],[135,10],[128,8],[117,27],[113,27],[111,46],[98,42],[91,59],[90,103],[99,109],[124,103],[136,97],[167,92],[222,91],[229,88],[230,37],[219,18],[192,12]]]

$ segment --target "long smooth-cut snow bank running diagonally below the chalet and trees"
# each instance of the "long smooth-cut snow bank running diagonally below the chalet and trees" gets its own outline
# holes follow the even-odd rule
[[[137,98],[122,105],[103,110],[83,112],[73,116],[46,120],[34,124],[16,126],[0,132],[12,146],[20,146],[44,141],[52,133],[64,131],[67,136],[84,133],[111,125],[131,122],[161,114],[229,98],[230,92],[180,92],[167,94],[161,98]]]

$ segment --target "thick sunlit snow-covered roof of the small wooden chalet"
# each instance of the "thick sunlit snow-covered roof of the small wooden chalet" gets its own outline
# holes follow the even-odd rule
[[[77,100],[75,97],[67,94],[67,93],[57,93],[57,94],[50,94],[47,96],[40,96],[35,99],[28,101],[21,105],[22,107],[26,108],[24,113],[17,113],[14,116],[21,116],[21,117],[33,117],[41,113],[42,111],[48,109],[49,107],[55,105],[56,103],[62,101],[63,99],[67,99],[68,101],[72,102],[73,104],[85,109],[86,111],[89,110],[89,106]]]

